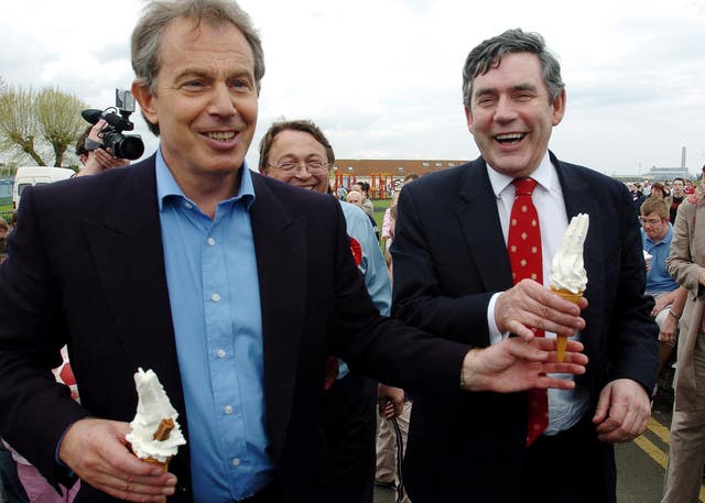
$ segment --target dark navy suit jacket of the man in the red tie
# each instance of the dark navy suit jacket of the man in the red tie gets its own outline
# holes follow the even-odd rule
[[[614,379],[629,378],[650,391],[658,328],[643,296],[631,196],[607,176],[553,154],[551,161],[568,218],[590,217],[584,253],[589,306],[581,337],[590,361],[578,386],[589,387],[593,407]],[[451,340],[488,346],[489,299],[512,286],[506,247],[481,157],[404,186],[392,244],[393,316]],[[520,501],[527,411],[527,393],[474,393],[452,402],[416,394],[405,458],[412,500]],[[423,483],[427,478],[443,481],[435,493]]]

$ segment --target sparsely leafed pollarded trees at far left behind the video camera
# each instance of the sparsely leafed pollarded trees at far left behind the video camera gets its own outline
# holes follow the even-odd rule
[[[74,95],[55,87],[0,89],[0,150],[29,156],[40,166],[53,157],[54,166],[61,166],[86,125],[84,108]]]

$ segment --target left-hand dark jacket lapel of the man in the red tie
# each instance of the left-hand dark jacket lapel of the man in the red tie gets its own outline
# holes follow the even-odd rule
[[[495,193],[481,157],[460,172],[460,203],[457,215],[468,250],[477,264],[485,292],[501,292],[512,285]]]

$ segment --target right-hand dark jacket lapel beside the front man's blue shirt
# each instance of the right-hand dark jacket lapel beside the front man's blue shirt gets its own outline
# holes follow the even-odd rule
[[[252,234],[262,309],[267,425],[278,459],[291,415],[305,317],[310,253],[305,217],[293,217],[267,181],[252,174]],[[275,183],[275,182],[274,182]]]

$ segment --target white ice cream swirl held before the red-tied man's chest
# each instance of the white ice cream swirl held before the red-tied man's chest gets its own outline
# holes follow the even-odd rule
[[[589,216],[578,214],[563,234],[561,247],[551,263],[551,287],[577,294],[587,286],[587,272],[583,264],[583,245],[587,237]]]

